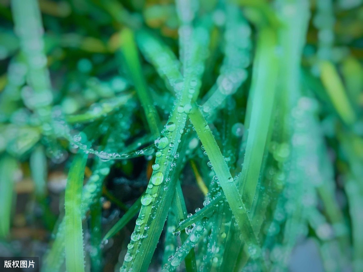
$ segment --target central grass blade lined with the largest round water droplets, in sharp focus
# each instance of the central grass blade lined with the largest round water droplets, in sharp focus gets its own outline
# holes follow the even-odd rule
[[[183,85],[175,85],[178,96],[172,114],[168,119],[168,124],[172,124],[172,128],[166,128],[164,135],[156,139],[160,150],[156,154],[155,164],[159,165],[159,169],[154,170],[152,173],[146,190],[146,197],[142,199],[143,205],[139,219],[142,220],[143,224],[136,226],[131,235],[129,250],[120,271],[130,271],[130,269],[135,271],[147,270],[174,194],[177,177],[173,176],[173,173],[176,172],[176,169],[172,171],[170,169],[172,169],[172,162],[179,157],[176,154],[187,119],[184,106],[191,102],[192,98],[189,96],[191,89],[194,90],[194,95],[199,93],[200,78],[204,68],[203,63],[207,55],[204,50],[209,42],[208,32],[204,26],[195,29],[191,25],[186,24],[186,26],[187,29],[184,28],[184,30],[191,30],[192,36],[189,36],[190,32],[188,31],[180,33],[180,46],[183,50],[186,48],[189,54],[181,57],[184,60],[184,82],[180,82]],[[180,149],[180,157],[182,152],[183,149]],[[177,162],[176,165],[178,167]],[[145,226],[148,228],[145,229]]]

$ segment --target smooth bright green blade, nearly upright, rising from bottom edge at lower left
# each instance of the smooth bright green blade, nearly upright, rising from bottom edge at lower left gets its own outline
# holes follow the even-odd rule
[[[85,271],[81,199],[87,155],[77,154],[69,169],[65,191],[65,254],[69,272]]]

